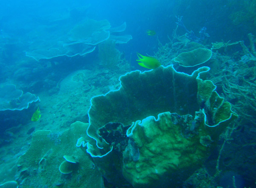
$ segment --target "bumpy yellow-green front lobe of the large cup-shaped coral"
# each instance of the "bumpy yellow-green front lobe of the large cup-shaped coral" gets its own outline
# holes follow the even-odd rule
[[[128,129],[128,137],[134,143],[123,152],[122,173],[135,188],[178,186],[206,160],[216,143],[211,147],[199,143],[200,136],[205,135],[202,127],[196,128],[198,133],[193,137],[180,134],[184,127],[177,122],[179,119],[179,115],[165,112],[157,120],[150,116]],[[132,147],[138,151],[137,160],[131,157]]]

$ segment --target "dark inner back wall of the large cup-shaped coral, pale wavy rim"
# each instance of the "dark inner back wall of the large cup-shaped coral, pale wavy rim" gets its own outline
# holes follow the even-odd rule
[[[157,117],[165,111],[180,115],[195,113],[199,110],[195,77],[208,70],[202,67],[188,75],[178,73],[172,66],[160,66],[154,71],[132,71],[121,76],[119,90],[91,99],[87,134],[96,140],[99,147],[95,142],[90,144],[104,148],[105,154],[111,150],[110,145],[97,134],[97,129],[109,122],[131,125],[136,120],[150,115]]]

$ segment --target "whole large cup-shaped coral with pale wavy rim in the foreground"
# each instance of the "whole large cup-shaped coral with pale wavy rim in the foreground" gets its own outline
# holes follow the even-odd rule
[[[191,170],[187,175],[192,174],[198,168],[199,161],[204,161],[209,156],[209,151],[216,145],[221,131],[237,117],[231,111],[230,104],[224,102],[224,99],[213,91],[215,85],[209,80],[204,80],[208,71],[208,67],[201,67],[192,75],[188,75],[175,71],[173,66],[165,68],[160,66],[153,71],[143,73],[133,71],[125,74],[119,78],[121,82],[119,90],[110,91],[106,95],[91,99],[92,105],[88,112],[90,126],[87,128],[87,135],[94,141],[87,143],[84,141],[86,144],[78,146],[87,146],[87,152],[104,170],[104,177],[116,186],[127,186],[127,182],[120,174],[123,174],[134,187],[173,184],[174,182],[171,182],[170,179],[177,178],[178,171],[185,169],[186,171]],[[169,115],[170,112],[177,114]],[[157,116],[158,118],[163,117],[164,120],[155,120],[154,117]],[[137,120],[143,121],[141,123]],[[107,142],[111,139],[106,137],[105,133],[111,133],[113,131],[111,127],[108,126],[110,129],[105,130],[104,134],[99,131],[102,127],[114,122],[123,125],[132,124],[126,133],[129,138],[128,142],[122,136],[117,137],[119,143],[124,140],[119,147],[116,147],[113,142]],[[151,126],[150,124],[154,124],[154,122],[161,123]],[[142,128],[143,126],[145,128]],[[157,128],[157,126],[160,127]],[[167,131],[169,126],[173,131]],[[177,126],[177,131],[175,131],[175,126]],[[121,135],[124,134],[121,131],[124,130],[123,128],[115,129],[119,130]],[[198,133],[199,130],[203,133]],[[162,137],[158,137],[159,134]],[[113,135],[113,133],[107,135]],[[174,140],[172,142],[167,138]],[[176,148],[174,142],[177,140],[180,140],[180,145],[177,145]],[[82,143],[81,140],[79,142]],[[166,145],[168,142],[173,144],[168,146]],[[192,144],[195,151],[186,143]],[[165,146],[169,149],[166,149]],[[183,154],[191,152],[187,148],[193,150],[191,157],[200,159],[199,161],[195,160],[194,165],[186,161],[186,157],[182,157],[186,155],[175,153],[177,150]],[[173,163],[170,162],[173,158],[166,160],[168,164],[156,162],[161,161],[160,156],[162,155],[176,156],[177,160]],[[143,164],[145,161],[154,164],[154,168],[151,165]],[[138,169],[141,170],[141,173]],[[119,174],[118,177],[116,174]],[[186,177],[180,175],[180,180],[183,181]],[[166,180],[163,181],[163,179]],[[177,181],[176,185],[180,185],[180,182]]]

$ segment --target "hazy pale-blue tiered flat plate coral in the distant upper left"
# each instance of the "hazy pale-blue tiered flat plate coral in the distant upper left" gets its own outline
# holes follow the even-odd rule
[[[111,28],[108,20],[96,21],[92,19],[85,19],[76,24],[60,25],[55,32],[49,32],[49,28],[40,28],[36,32],[31,31],[29,38],[34,38],[35,35],[37,38],[40,34],[41,39],[33,41],[29,49],[26,49],[26,56],[37,61],[60,56],[83,56],[93,52],[97,44],[108,39],[115,43],[127,43],[132,39],[131,35],[116,36],[114,34],[124,31],[125,28],[126,23]],[[44,42],[42,43],[42,41]]]

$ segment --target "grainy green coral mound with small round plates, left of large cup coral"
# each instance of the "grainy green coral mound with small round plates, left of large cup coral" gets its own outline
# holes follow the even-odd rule
[[[36,131],[28,151],[17,162],[18,183],[22,187],[38,187],[38,182],[41,187],[103,187],[102,176],[91,158],[76,147],[79,137],[90,140],[84,132],[87,126],[75,122],[60,136],[49,130]]]

